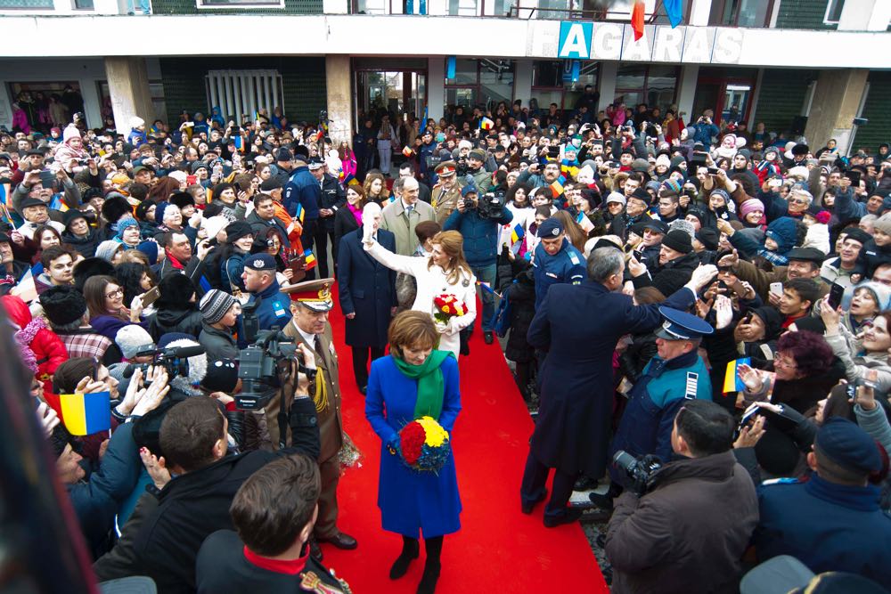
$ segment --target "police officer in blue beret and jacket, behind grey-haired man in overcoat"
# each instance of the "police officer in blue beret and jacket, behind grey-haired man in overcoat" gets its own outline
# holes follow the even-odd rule
[[[584,256],[566,239],[560,220],[551,217],[538,227],[538,245],[532,258],[535,276],[535,309],[553,284],[580,285],[587,273]]]

